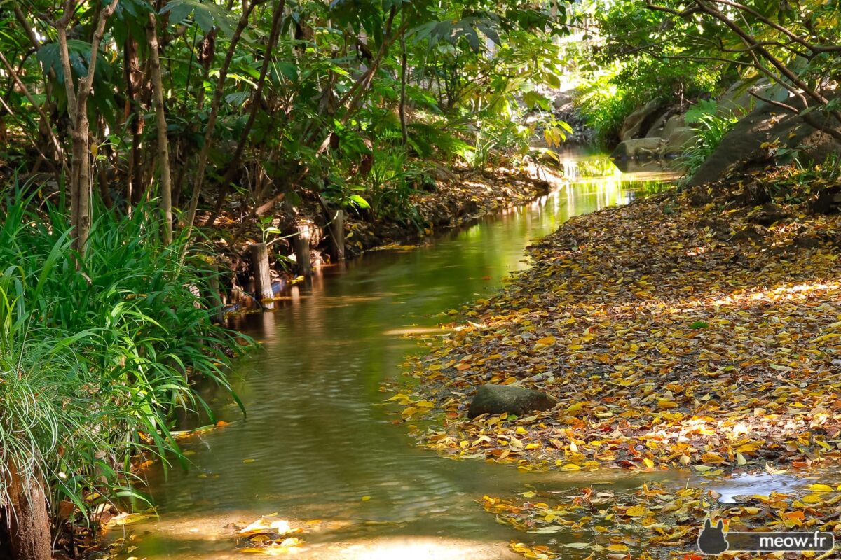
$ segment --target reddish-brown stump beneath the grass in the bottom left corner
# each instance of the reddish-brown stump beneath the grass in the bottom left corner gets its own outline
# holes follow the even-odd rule
[[[3,485],[8,503],[0,505],[0,558],[50,560],[50,516],[43,485],[22,480],[13,463],[8,464]]]

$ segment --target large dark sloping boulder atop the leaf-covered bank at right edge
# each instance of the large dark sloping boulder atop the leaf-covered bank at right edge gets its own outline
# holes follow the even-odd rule
[[[796,98],[785,102],[803,107]],[[817,111],[812,115],[828,125],[838,125]],[[829,154],[841,153],[841,143],[828,133],[812,128],[796,114],[784,113],[780,107],[762,102],[724,136],[710,157],[692,175],[687,186],[719,181],[734,169],[767,161],[768,149],[763,144],[775,141],[779,142],[780,148],[796,151],[801,164],[822,162]]]

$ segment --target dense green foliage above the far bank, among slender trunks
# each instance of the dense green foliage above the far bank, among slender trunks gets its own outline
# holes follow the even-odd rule
[[[56,30],[47,24],[61,18],[61,4],[24,4],[27,13],[43,16],[27,22],[43,44],[34,56],[24,55],[32,48],[31,38],[25,26],[10,17],[3,19],[8,32],[0,34],[0,51],[16,58],[12,63],[34,92],[35,104],[61,117],[49,124],[71,154],[70,134],[62,120],[66,91],[61,49]],[[228,174],[235,179],[225,188],[246,196],[245,183],[253,169],[261,167],[275,193],[290,187],[295,191],[297,196],[288,200],[335,194],[345,190],[343,185],[356,185],[356,170],[368,144],[402,150],[407,160],[445,163],[465,154],[478,154],[475,158],[482,162],[492,149],[521,150],[523,129],[508,123],[523,116],[517,100],[546,110],[548,100],[537,93],[537,86],[559,85],[558,46],[550,39],[565,33],[563,7],[516,0],[286,3],[277,43],[267,50],[272,16],[280,5],[274,0],[257,2],[244,13],[250,2],[165,0],[153,5],[148,0],[121,0],[106,24],[88,111],[93,143],[102,148],[93,181],[113,173],[107,187],[115,191],[114,200],[124,201],[121,195],[131,173],[136,180],[155,172],[154,150],[138,149],[156,143],[156,118],[149,101],[151,53],[145,40],[148,18],[155,10],[172,175],[180,181],[173,187],[175,207],[184,207],[189,191],[184,186],[196,180],[194,162],[204,146],[225,60],[230,66],[214,118],[204,184],[216,188],[214,183]],[[89,41],[97,17],[92,7],[71,17],[68,47],[77,83],[89,67]],[[271,60],[257,99],[266,56]],[[49,160],[54,147],[40,133],[36,119],[28,118],[34,114],[32,103],[17,91],[13,94],[8,100],[12,113],[3,119],[20,141],[6,157],[29,164],[32,155],[26,150],[36,147]],[[398,117],[401,106],[405,123]],[[27,139],[37,145],[22,144]],[[399,163],[399,158],[391,160]],[[391,170],[392,175],[400,172]],[[141,181],[133,182],[136,201],[145,193],[139,196]],[[208,193],[201,194],[207,201]],[[363,195],[353,192],[346,201],[352,196]],[[383,196],[383,204],[394,201],[394,213],[402,215],[404,199]],[[381,210],[381,215],[391,213]]]

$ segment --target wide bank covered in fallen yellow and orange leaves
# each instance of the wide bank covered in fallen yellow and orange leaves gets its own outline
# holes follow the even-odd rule
[[[419,388],[396,399],[403,418],[431,421],[412,431],[444,455],[521,469],[689,468],[717,479],[766,463],[810,474],[841,458],[841,216],[832,194],[826,204],[812,194],[837,183],[831,168],[783,168],[570,220],[532,247],[531,269],[428,342],[410,371]],[[468,420],[470,395],[488,383],[542,390],[558,405]],[[819,489],[727,515],[833,530],[838,495]],[[704,510],[729,507],[714,498],[647,486],[485,506],[526,530],[595,538],[604,526],[600,546],[627,547],[621,521],[639,526],[637,545],[674,547],[694,542]],[[524,542],[526,555],[548,553]]]

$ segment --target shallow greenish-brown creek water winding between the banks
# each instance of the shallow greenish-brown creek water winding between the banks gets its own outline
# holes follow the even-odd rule
[[[483,495],[527,484],[605,483],[621,491],[664,476],[523,474],[447,460],[416,447],[381,406],[383,380],[398,377],[406,355],[417,351],[404,332],[434,328],[440,311],[492,295],[506,275],[528,265],[526,246],[569,217],[627,203],[673,178],[623,174],[604,157],[564,163],[572,181],[530,205],[415,251],[327,268],[294,286],[276,311],[243,317],[240,327],[263,347],[237,364],[235,390],[248,416],[224,395],[208,395],[231,425],[185,442],[193,462],[187,472],[151,471],[161,517],[130,526],[142,536],[131,555],[235,557],[225,526],[278,512],[320,520],[308,525],[309,548],[298,557],[508,557],[505,543],[517,534],[475,503]]]

